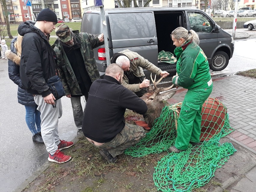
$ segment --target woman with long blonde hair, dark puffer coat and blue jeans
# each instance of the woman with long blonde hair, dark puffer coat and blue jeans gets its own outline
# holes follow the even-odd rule
[[[26,123],[33,134],[32,140],[37,143],[44,143],[41,136],[41,118],[40,111],[37,110],[38,105],[35,104],[34,96],[27,93],[21,84],[20,80],[20,55],[21,55],[21,42],[23,36],[18,35],[11,41],[11,50],[5,52],[8,58],[8,73],[9,78],[18,85],[18,103],[25,106],[26,109]]]

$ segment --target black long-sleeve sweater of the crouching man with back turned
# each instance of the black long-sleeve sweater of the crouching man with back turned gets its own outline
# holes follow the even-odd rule
[[[82,130],[84,135],[99,143],[111,141],[125,126],[124,112],[139,114],[148,110],[146,103],[115,78],[105,75],[90,87]]]

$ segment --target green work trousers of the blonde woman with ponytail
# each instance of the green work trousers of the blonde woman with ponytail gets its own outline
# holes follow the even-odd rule
[[[200,142],[202,106],[211,93],[212,85],[187,91],[178,118],[177,138],[174,145],[177,149],[185,150],[189,142]]]

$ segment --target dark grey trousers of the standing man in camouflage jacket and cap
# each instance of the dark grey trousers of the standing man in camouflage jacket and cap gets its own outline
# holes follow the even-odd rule
[[[83,119],[84,119],[84,112],[81,105],[81,97],[70,97],[70,100],[71,100],[71,105],[73,109],[75,126],[78,129],[81,129],[83,124]],[[85,101],[85,106],[86,106],[86,101]]]

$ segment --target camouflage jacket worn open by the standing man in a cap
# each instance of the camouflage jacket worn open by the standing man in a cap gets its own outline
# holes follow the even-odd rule
[[[72,32],[81,41],[80,49],[84,59],[85,68],[93,82],[100,78],[98,67],[94,59],[93,49],[103,45],[104,42],[99,42],[99,34],[92,35],[88,33],[79,33],[78,30]],[[53,44],[53,50],[57,55],[59,77],[62,81],[66,95],[81,95],[82,93],[78,85],[78,81],[59,39],[57,39]]]

